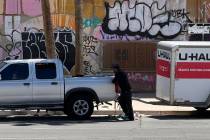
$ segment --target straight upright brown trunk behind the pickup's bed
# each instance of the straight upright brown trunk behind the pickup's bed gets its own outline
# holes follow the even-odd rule
[[[81,75],[81,29],[82,29],[82,14],[81,14],[81,0],[74,0],[75,4],[75,72]]]

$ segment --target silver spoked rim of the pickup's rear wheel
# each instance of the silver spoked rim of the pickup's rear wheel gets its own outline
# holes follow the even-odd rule
[[[73,109],[75,114],[79,116],[84,116],[89,110],[89,104],[85,100],[77,100],[76,102],[74,102]]]

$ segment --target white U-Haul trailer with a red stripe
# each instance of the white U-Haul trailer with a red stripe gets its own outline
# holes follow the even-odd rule
[[[159,42],[156,71],[158,99],[201,110],[210,106],[210,42]]]

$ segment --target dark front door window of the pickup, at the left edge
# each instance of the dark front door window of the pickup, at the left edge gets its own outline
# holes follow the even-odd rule
[[[1,80],[25,80],[29,76],[27,63],[11,64],[0,72]]]

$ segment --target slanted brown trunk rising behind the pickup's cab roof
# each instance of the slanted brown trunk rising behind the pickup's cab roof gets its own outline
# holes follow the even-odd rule
[[[77,0],[76,0],[77,1]],[[41,0],[47,58],[56,58],[49,0]]]

